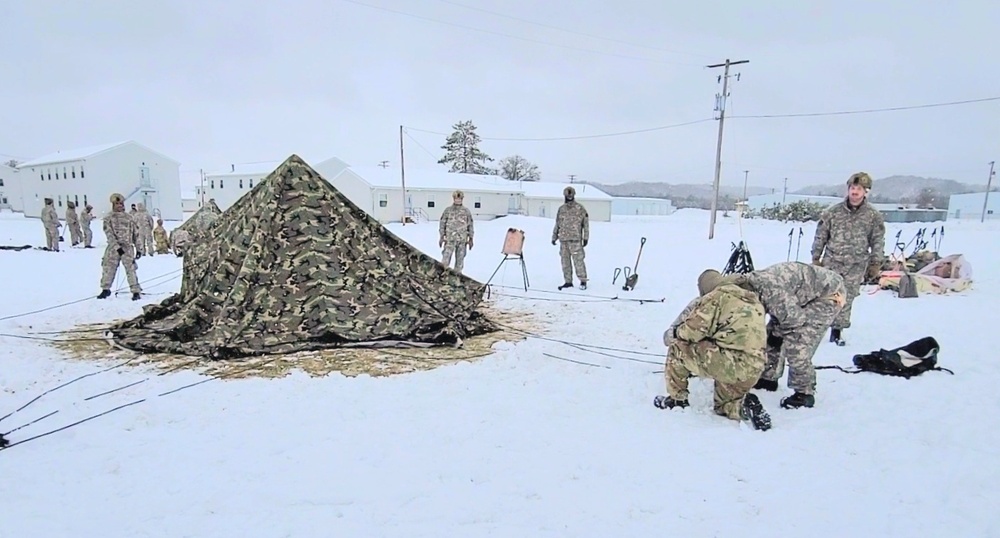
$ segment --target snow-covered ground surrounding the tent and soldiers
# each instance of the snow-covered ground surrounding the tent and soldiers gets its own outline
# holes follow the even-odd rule
[[[0,215],[0,244],[42,242],[39,221]],[[157,395],[202,376],[124,367],[43,397],[0,422],[0,432],[58,411],[11,433],[17,442],[147,400],[0,451],[0,536],[1000,536],[1000,361],[989,351],[1000,223],[945,224],[942,251],[966,255],[972,290],[908,300],[863,294],[848,345],[824,343],[815,358],[848,366],[855,353],[930,335],[956,375],[821,370],[813,409],[780,409],[784,386],[760,393],[774,422],[768,432],[714,416],[702,380],[693,380],[691,408],[652,406],[665,391],[656,373],[662,332],[697,293],[697,275],[723,267],[740,237],[736,219],[720,218],[713,241],[704,211],[593,223],[591,287],[561,294],[552,223],[478,222],[466,262],[485,281],[507,228],[525,229],[531,299],[493,300],[548,320],[547,340],[501,342],[485,359],[404,376],[296,374],[165,396]],[[791,227],[742,223],[758,267],[785,260]],[[900,229],[909,239],[918,227],[890,224],[887,240]],[[390,228],[438,255],[437,223]],[[814,225],[802,228],[807,261]],[[623,292],[613,271],[634,263],[640,237],[648,242],[639,284]],[[140,279],[164,295],[92,300],[102,251],[0,251],[0,416],[107,366],[14,336],[135,316],[179,289],[171,277],[181,261],[158,256],[140,260]],[[153,280],[161,275],[169,276]],[[518,286],[517,263],[494,283]],[[614,296],[665,301],[605,300]]]

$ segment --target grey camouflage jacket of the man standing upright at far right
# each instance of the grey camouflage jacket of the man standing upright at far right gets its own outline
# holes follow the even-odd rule
[[[828,266],[881,266],[884,254],[885,219],[867,200],[856,208],[844,200],[820,215],[813,260]]]

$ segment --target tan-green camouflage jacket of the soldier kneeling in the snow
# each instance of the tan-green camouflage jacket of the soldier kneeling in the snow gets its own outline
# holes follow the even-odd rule
[[[677,324],[675,334],[687,342],[708,340],[763,362],[767,339],[764,306],[754,292],[724,284],[694,302],[694,308]]]

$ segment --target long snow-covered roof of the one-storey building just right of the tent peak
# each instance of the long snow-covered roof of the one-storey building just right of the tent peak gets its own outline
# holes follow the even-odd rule
[[[398,168],[352,166],[345,169],[341,174],[347,171],[354,172],[375,188],[394,189],[401,188],[402,186]],[[461,189],[467,192],[502,192],[512,194],[521,192],[516,182],[507,181],[499,176],[459,174],[448,172],[444,168],[407,168],[406,188],[441,191]]]

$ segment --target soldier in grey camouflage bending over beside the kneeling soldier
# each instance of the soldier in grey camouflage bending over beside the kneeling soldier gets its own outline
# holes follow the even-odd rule
[[[826,328],[844,306],[844,279],[817,265],[782,262],[726,280],[756,292],[770,315],[767,366],[754,388],[778,390],[787,361],[788,387],[795,393],[781,400],[781,406],[812,407],[816,401],[812,358]]]

